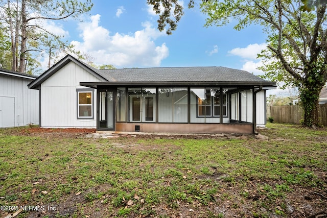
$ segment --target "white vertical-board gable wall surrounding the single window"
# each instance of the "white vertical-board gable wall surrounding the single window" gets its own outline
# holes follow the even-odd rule
[[[41,126],[43,128],[96,128],[97,90],[93,96],[93,118],[77,118],[77,89],[80,82],[100,80],[79,65],[69,62],[41,84]],[[92,89],[90,89],[92,90]]]

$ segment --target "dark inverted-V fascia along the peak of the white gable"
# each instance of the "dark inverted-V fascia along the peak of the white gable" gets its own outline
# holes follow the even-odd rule
[[[98,79],[100,79],[102,81],[107,81],[105,78],[103,78],[102,76],[97,74],[97,72],[95,72],[94,70],[92,70],[91,68],[89,68],[88,66],[83,64],[78,59],[74,58],[71,55],[66,55],[63,59],[61,59],[59,62],[57,62],[51,68],[49,68],[48,70],[43,72],[43,74],[41,74],[38,78],[36,78],[36,80],[34,80],[30,84],[28,84],[28,87],[31,88],[31,89],[39,89],[41,83],[43,83],[46,79],[51,77],[53,74],[55,74],[55,72],[60,70],[62,67],[64,67],[67,63],[69,63],[71,61],[73,61],[74,63],[76,63],[80,67],[86,69],[88,72],[90,72],[90,74],[94,75]]]

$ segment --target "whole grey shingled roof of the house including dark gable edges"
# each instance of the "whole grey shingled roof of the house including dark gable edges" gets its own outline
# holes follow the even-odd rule
[[[96,69],[67,55],[46,70],[29,88],[39,89],[40,84],[69,62],[81,66],[101,82],[81,82],[80,85],[97,88],[98,86],[135,86],[135,85],[240,85],[240,86],[276,86],[275,82],[261,79],[250,72],[227,67],[153,67],[129,69]]]

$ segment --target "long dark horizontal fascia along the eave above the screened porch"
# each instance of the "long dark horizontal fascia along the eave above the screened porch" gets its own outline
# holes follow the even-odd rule
[[[80,82],[81,86],[97,88],[100,86],[226,86],[226,87],[235,87],[235,86],[244,86],[244,87],[274,87],[276,86],[276,82],[205,82],[205,81],[174,81],[174,82]]]

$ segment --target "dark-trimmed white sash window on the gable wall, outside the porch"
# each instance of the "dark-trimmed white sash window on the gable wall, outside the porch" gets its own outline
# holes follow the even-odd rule
[[[77,91],[77,118],[94,118],[94,89],[76,89]]]

